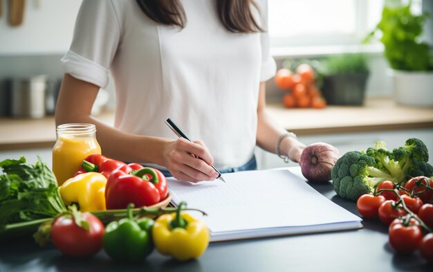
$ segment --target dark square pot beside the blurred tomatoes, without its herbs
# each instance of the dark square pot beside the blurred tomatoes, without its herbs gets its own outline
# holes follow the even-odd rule
[[[328,105],[362,105],[369,73],[325,75],[322,93]]]

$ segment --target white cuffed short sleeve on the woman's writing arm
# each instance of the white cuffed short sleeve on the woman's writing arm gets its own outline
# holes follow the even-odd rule
[[[75,21],[71,48],[61,60],[64,73],[107,87],[119,40],[120,24],[113,3],[84,0]]]

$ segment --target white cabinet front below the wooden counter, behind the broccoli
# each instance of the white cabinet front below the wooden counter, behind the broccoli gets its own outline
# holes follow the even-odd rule
[[[387,143],[388,149],[400,147],[405,144],[408,138],[419,138],[423,140],[427,149],[430,151],[429,163],[433,164],[433,129],[414,129],[414,130],[395,130],[395,131],[378,131],[378,132],[360,132],[347,134],[320,134],[299,136],[302,143],[310,145],[317,142],[329,143],[340,150],[340,155],[353,150],[366,150],[373,147],[378,140]],[[275,167],[294,166],[297,163],[284,163],[273,153],[266,152],[263,149],[256,149],[257,167],[259,169],[269,169]]]

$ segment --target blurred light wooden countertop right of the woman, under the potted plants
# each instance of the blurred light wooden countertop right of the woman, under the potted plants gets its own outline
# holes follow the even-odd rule
[[[279,125],[299,135],[433,128],[433,107],[397,105],[389,98],[367,99],[362,107],[325,109],[285,109],[273,104],[268,112]]]

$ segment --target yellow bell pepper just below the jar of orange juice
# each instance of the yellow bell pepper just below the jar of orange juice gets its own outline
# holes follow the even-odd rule
[[[98,172],[78,174],[65,181],[59,192],[66,206],[78,203],[81,212],[106,210],[105,185],[107,178]]]

